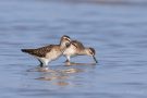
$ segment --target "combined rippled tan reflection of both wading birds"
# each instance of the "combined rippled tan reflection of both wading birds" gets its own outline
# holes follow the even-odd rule
[[[29,72],[41,72],[37,78],[39,81],[49,81],[52,85],[68,86],[73,85],[70,82],[74,74],[85,72],[87,66],[94,68],[96,63],[74,63],[66,62],[65,65],[58,66],[58,70],[52,70],[50,68],[36,68],[29,70]],[[86,69],[85,69],[86,68]],[[88,68],[89,69],[89,68]]]

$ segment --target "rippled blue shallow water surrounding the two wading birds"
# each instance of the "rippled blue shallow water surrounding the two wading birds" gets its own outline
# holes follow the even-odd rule
[[[0,97],[147,98],[147,4],[136,2],[0,0]],[[62,35],[94,47],[99,63],[77,57],[72,61],[86,65],[69,66],[62,57],[41,72],[20,51]]]

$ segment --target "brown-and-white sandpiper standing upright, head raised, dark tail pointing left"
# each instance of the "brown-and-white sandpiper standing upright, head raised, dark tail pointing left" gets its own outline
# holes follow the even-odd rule
[[[22,51],[34,56],[40,62],[40,66],[42,68],[62,56],[64,50],[70,46],[70,42],[71,38],[64,35],[61,37],[59,45],[49,45],[37,49],[22,49]]]

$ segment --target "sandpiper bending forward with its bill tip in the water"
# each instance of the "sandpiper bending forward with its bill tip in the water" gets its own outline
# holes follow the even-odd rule
[[[63,52],[63,56],[66,57],[65,62],[70,62],[71,57],[90,56],[94,58],[95,62],[97,63],[98,61],[96,60],[95,54],[96,54],[96,51],[94,48],[84,47],[84,45],[77,40],[72,40],[70,46]]]

